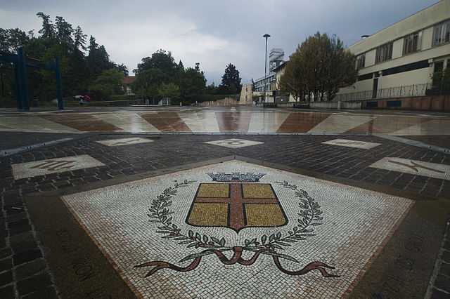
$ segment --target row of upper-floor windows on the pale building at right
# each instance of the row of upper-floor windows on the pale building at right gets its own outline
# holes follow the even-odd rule
[[[432,46],[439,46],[450,41],[450,20],[435,25],[433,28]],[[420,51],[422,44],[422,31],[414,32],[404,37],[403,55]],[[385,62],[392,59],[392,48],[394,42],[383,44],[376,48],[375,63]],[[356,58],[356,69],[362,69],[366,65],[366,54]]]

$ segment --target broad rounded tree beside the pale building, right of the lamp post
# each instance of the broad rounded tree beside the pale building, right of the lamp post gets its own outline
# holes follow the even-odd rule
[[[354,55],[337,36],[317,32],[290,56],[280,87],[296,100],[332,100],[339,88],[356,81],[354,65]]]

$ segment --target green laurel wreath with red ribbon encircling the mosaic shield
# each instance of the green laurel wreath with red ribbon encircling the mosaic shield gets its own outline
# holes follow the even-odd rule
[[[233,173],[233,175],[237,174],[238,173]],[[210,174],[208,173],[208,175]],[[339,275],[329,274],[326,271],[326,269],[335,269],[334,267],[319,261],[309,263],[298,271],[285,270],[280,263],[280,258],[299,263],[299,261],[293,256],[280,253],[279,251],[283,250],[285,247],[294,246],[296,243],[306,240],[307,237],[314,237],[316,234],[312,234],[312,232],[314,232],[313,227],[322,224],[319,222],[323,220],[320,205],[309,196],[307,191],[300,189],[297,185],[290,185],[286,181],[276,182],[289,190],[293,190],[295,197],[298,199],[298,206],[300,208],[297,213],[297,215],[300,216],[297,218],[298,224],[295,224],[288,232],[279,231],[269,235],[269,237],[264,234],[261,237],[245,239],[244,244],[241,245],[226,246],[226,240],[224,237],[218,239],[217,237],[193,232],[193,230],[188,230],[186,234],[185,232],[181,232],[181,229],[172,223],[172,216],[169,216],[174,213],[170,210],[170,206],[173,202],[172,198],[176,196],[179,188],[186,187],[193,182],[195,181],[184,180],[184,182],[181,183],[176,182],[174,187],[167,187],[162,194],[153,199],[147,215],[150,218],[150,222],[159,223],[161,225],[158,226],[158,230],[155,232],[164,234],[162,238],[173,239],[176,241],[176,244],[186,246],[186,248],[195,247],[203,248],[204,250],[197,253],[192,253],[191,255],[187,255],[182,258],[179,263],[192,260],[191,264],[186,267],[179,267],[161,260],[150,261],[134,266],[137,268],[153,267],[153,269],[146,274],[146,277],[149,277],[158,270],[165,268],[179,272],[194,270],[198,267],[198,265],[200,265],[200,261],[205,255],[217,255],[217,258],[219,258],[221,263],[224,263],[225,265],[234,265],[238,263],[246,266],[250,266],[255,263],[259,255],[270,255],[273,258],[276,267],[278,267],[278,269],[285,274],[303,275],[312,270],[319,270],[323,277],[339,277]],[[233,251],[233,256],[231,258],[227,258],[223,254],[226,251]],[[252,258],[245,260],[242,257],[242,253],[245,251],[254,253]]]

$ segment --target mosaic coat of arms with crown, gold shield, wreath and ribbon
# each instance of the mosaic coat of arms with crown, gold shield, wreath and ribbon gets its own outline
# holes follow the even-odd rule
[[[179,263],[189,264],[186,267],[175,265],[164,260],[151,260],[135,267],[149,267],[146,277],[163,269],[178,272],[195,270],[206,255],[215,255],[225,265],[239,264],[251,267],[260,255],[269,255],[274,267],[284,274],[303,275],[318,270],[323,277],[339,277],[329,273],[335,269],[320,261],[311,261],[299,266],[298,270],[287,270],[283,260],[300,262],[296,256],[283,253],[283,249],[299,247],[302,242],[314,237],[314,227],[323,223],[320,205],[309,196],[306,190],[287,181],[275,182],[285,187],[295,199],[297,218],[288,219],[274,188],[270,183],[259,180],[264,173],[207,173],[212,181],[200,182],[191,208],[187,215],[176,215],[172,203],[176,200],[179,189],[193,184],[193,180],[175,182],[161,194],[152,199],[148,209],[148,220],[155,227],[155,232],[162,239],[171,239],[173,246],[191,248],[192,253],[180,256]],[[191,229],[182,230],[173,223],[174,219],[183,220]],[[243,244],[228,244],[220,235],[200,234],[198,227],[227,227],[236,234],[249,227],[261,227],[261,234],[245,239]],[[264,227],[279,228],[278,232],[264,234]],[[292,252],[292,251],[291,251]],[[243,253],[250,253],[244,258]]]

